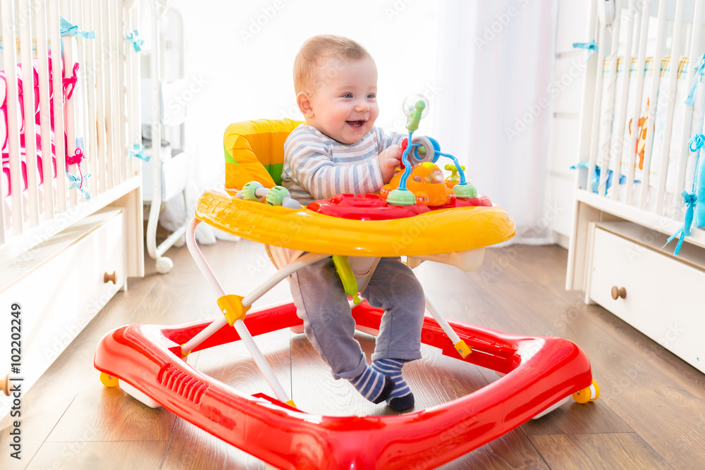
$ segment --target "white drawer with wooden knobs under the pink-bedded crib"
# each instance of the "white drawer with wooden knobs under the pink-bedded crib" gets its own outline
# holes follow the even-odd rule
[[[106,210],[4,266],[0,306],[5,312],[12,304],[21,307],[20,376],[25,392],[125,285],[123,231],[121,211]],[[13,272],[16,276],[8,282],[7,275]],[[113,273],[114,283],[107,279]],[[1,328],[2,345],[9,344],[9,338],[4,342],[9,323]],[[8,365],[0,364],[1,376],[9,371]]]

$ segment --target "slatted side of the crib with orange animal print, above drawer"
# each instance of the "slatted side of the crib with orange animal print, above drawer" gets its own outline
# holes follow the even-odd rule
[[[695,66],[705,52],[704,1],[617,0],[613,22],[598,20],[594,32],[595,97],[584,113],[591,123],[580,147],[589,153],[577,197],[663,233],[683,223],[681,193],[692,190],[697,159],[689,140],[704,132],[705,97],[686,106],[682,96],[703,87]],[[691,240],[705,246],[696,231]]]

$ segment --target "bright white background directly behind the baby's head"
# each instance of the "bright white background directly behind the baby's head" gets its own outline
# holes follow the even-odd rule
[[[379,72],[377,123],[384,128],[403,130],[405,97],[434,93],[436,0],[170,4],[184,16],[185,77],[200,84],[188,102],[187,121],[187,149],[195,155],[199,192],[222,187],[223,131],[229,123],[302,118],[294,100],[293,60],[313,35],[347,36],[369,50]],[[433,114],[431,109],[419,132],[430,133]]]

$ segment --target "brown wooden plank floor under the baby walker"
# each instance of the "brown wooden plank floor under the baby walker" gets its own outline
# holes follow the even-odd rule
[[[228,292],[245,295],[274,272],[261,245],[203,247]],[[21,462],[9,456],[11,423],[0,421],[1,469],[263,469],[245,452],[164,409],[148,409],[119,388],[104,388],[92,367],[101,336],[126,323],[180,323],[216,316],[209,286],[185,248],[175,267],[130,279],[23,397]],[[598,306],[564,290],[567,252],[556,246],[488,249],[473,273],[426,263],[417,276],[446,317],[510,333],[558,335],[587,352],[598,401],[572,400],[447,469],[704,469],[705,375]],[[288,285],[262,304],[288,299]],[[668,314],[668,312],[664,312]],[[369,354],[374,338],[357,336]],[[347,381],[334,381],[303,335],[281,330],[257,338],[298,407],[316,414],[384,414]],[[417,408],[453,400],[496,380],[492,371],[442,357],[405,366]],[[368,355],[369,357],[369,355]],[[269,392],[242,345],[193,354],[197,369],[244,392]]]

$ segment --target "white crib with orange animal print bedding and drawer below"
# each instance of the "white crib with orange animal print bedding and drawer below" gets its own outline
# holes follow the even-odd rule
[[[566,280],[701,371],[705,230],[693,226],[678,256],[678,240],[663,245],[684,225],[681,192],[702,152],[689,141],[704,133],[705,80],[694,73],[704,9],[704,0],[594,2],[586,39],[599,52],[582,94],[577,152],[587,165],[576,175]]]

